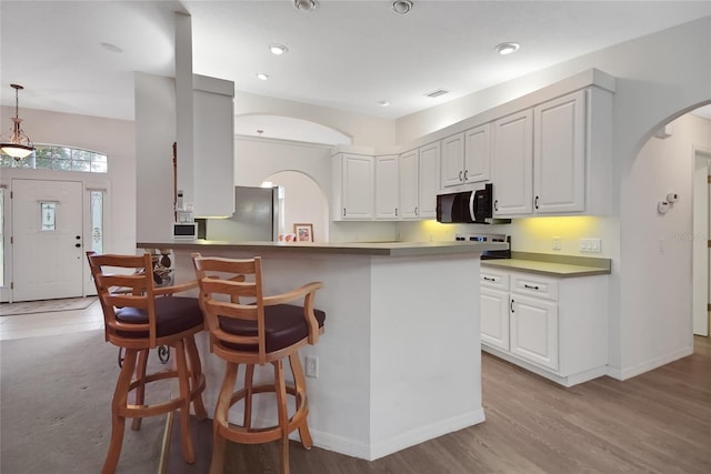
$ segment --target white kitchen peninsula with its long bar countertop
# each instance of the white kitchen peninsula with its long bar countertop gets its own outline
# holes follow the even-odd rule
[[[318,377],[307,380],[311,434],[319,447],[375,460],[484,421],[479,258],[502,245],[162,241],[137,248],[172,249],[177,281],[193,275],[191,252],[260,255],[268,294],[322,281],[316,306],[326,312],[326,332],[301,350],[301,357],[318,357]],[[208,344],[200,334],[212,413],[224,363]],[[257,372],[271,375],[271,367]],[[267,404],[258,416],[273,420]]]

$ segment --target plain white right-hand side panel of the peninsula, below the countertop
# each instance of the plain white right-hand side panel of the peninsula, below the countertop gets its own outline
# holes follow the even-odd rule
[[[484,421],[479,258],[373,258],[371,458]]]

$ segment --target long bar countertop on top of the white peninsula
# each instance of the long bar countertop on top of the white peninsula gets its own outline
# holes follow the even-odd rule
[[[343,255],[425,256],[478,254],[484,250],[504,250],[504,243],[480,242],[224,242],[207,240],[166,240],[138,242],[138,249],[179,249],[207,252],[208,249],[276,251],[289,253],[330,253]]]

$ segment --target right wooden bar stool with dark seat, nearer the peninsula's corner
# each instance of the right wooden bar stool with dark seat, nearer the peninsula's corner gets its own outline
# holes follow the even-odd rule
[[[213,446],[210,473],[222,473],[226,442],[259,444],[281,440],[280,472],[289,473],[289,433],[299,430],[301,444],[311,448],[307,415],[307,386],[299,347],[316,344],[323,333],[326,313],[313,309],[317,290],[323,283],[308,283],[278,295],[262,293],[259,256],[248,260],[202,258],[193,254],[200,284],[200,300],[210,331],[210,346],[227,362],[222,387],[214,409]],[[284,304],[301,300],[302,305]],[[293,386],[284,381],[284,360],[293,373]],[[253,385],[254,365],[270,363],[273,383]],[[246,367],[244,386],[236,391],[240,364]],[[274,426],[252,427],[253,395],[277,395],[279,422]],[[293,396],[296,411],[289,416],[287,396]],[[242,424],[229,420],[229,411],[244,401]]]

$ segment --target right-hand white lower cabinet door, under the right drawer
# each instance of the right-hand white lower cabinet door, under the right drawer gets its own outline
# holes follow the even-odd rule
[[[511,353],[558,370],[558,304],[511,294]]]

